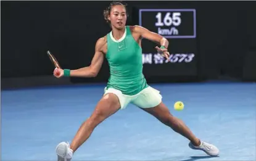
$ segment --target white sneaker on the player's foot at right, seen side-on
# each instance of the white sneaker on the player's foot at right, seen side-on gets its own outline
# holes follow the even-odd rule
[[[194,150],[204,151],[206,154],[211,156],[217,156],[219,155],[220,152],[216,146],[213,146],[212,144],[209,144],[204,141],[200,141],[200,146],[194,146],[192,142],[189,142],[189,147]]]

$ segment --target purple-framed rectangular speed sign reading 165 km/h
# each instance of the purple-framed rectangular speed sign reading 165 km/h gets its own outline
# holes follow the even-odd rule
[[[165,38],[196,38],[196,10],[140,9],[139,25]]]

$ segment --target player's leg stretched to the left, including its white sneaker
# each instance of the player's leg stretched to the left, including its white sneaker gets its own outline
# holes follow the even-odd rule
[[[80,126],[71,145],[67,142],[60,142],[56,147],[56,152],[59,160],[71,160],[73,153],[80,147],[93,133],[99,123],[103,122],[110,115],[115,114],[120,109],[118,97],[115,94],[108,93],[98,102],[96,108],[83,124]]]

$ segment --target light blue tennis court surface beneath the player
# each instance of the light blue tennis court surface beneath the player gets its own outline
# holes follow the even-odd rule
[[[134,105],[97,126],[73,160],[256,160],[255,83],[152,85],[171,113],[220,157],[188,147],[188,140]],[[1,159],[56,160],[55,147],[72,141],[104,86],[20,89],[1,93]],[[185,108],[173,109],[175,101]]]

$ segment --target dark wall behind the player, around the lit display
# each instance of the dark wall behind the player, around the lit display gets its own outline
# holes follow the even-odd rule
[[[110,1],[1,1],[1,87],[10,88],[19,86],[18,84],[30,86],[38,80],[41,81],[37,85],[56,83],[51,76],[54,68],[46,55],[47,50],[57,57],[63,68],[75,69],[89,65],[97,39],[110,31],[102,15],[109,3]],[[145,74],[149,81],[205,81],[223,78],[256,81],[256,2],[127,3],[130,13],[128,25],[138,25],[139,9],[196,9],[196,39],[169,39],[171,52],[176,52],[176,46],[184,50],[189,44],[194,46],[196,58],[193,67],[196,71],[191,75],[178,74],[179,72],[174,71],[190,67],[145,64],[144,68],[148,70],[146,73],[156,73]],[[154,50],[155,44],[144,44],[144,51],[150,50],[149,48]],[[169,74],[157,75],[167,68],[170,69]],[[108,76],[109,67],[105,61],[97,78],[72,78],[66,79],[65,83],[105,82]],[[33,81],[28,81],[29,79]]]

